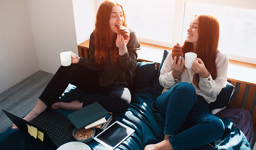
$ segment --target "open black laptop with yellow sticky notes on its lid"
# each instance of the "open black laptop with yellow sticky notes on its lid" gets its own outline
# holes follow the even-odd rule
[[[73,130],[75,129],[73,123],[66,116],[55,111],[46,109],[36,118],[31,120],[31,122],[21,119],[5,110],[2,111],[9,119],[11,119],[20,131],[29,134],[29,126],[33,126],[37,128],[37,131],[40,131],[43,134],[43,140],[40,140],[39,134],[36,139],[54,147],[60,147],[73,137]],[[41,133],[40,135],[42,136]]]

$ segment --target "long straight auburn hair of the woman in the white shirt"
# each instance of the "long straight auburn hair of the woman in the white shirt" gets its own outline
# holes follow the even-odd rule
[[[217,67],[215,59],[218,54],[218,44],[220,37],[220,26],[217,18],[211,14],[199,13],[194,17],[198,17],[198,41],[195,48],[197,57],[200,58],[211,73],[213,79],[217,77]],[[192,52],[193,44],[185,41],[182,50],[185,55],[186,52]],[[194,74],[194,85],[198,87],[199,74]]]

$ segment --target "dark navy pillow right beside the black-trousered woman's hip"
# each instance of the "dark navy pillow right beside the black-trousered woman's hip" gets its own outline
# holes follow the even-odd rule
[[[138,62],[133,84],[131,85],[133,93],[148,92],[156,74],[156,62]]]

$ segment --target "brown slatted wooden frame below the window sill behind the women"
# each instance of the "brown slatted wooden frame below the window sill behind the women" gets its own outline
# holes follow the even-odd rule
[[[78,45],[78,54],[79,56],[83,58],[89,58],[89,40],[81,43]],[[148,61],[144,59],[139,59],[139,61]],[[148,61],[153,62],[153,61]],[[159,68],[160,63],[157,63],[157,70]],[[250,111],[253,110],[252,113],[252,119],[253,119],[253,128],[254,132],[256,132],[256,104],[253,103],[253,98],[256,90],[256,84],[249,83],[249,82],[243,82],[236,79],[229,79],[227,78],[227,81],[230,82],[232,85],[235,86],[235,92],[238,92],[238,95],[236,98],[232,98],[232,100],[229,102],[229,107],[235,107],[235,108],[242,108],[242,104],[245,103],[245,107],[242,109]],[[237,86],[240,85],[240,86]],[[248,95],[245,94],[245,89],[249,86],[249,92]],[[245,98],[247,96],[247,98]],[[246,101],[245,101],[246,100]],[[254,105],[254,106],[253,106]]]

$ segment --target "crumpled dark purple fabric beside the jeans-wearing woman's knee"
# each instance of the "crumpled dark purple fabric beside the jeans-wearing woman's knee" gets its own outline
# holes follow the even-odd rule
[[[252,116],[248,110],[241,108],[226,108],[221,110],[215,116],[219,118],[227,117],[234,123],[236,128],[239,128],[249,140],[250,144],[253,144],[253,123]]]

